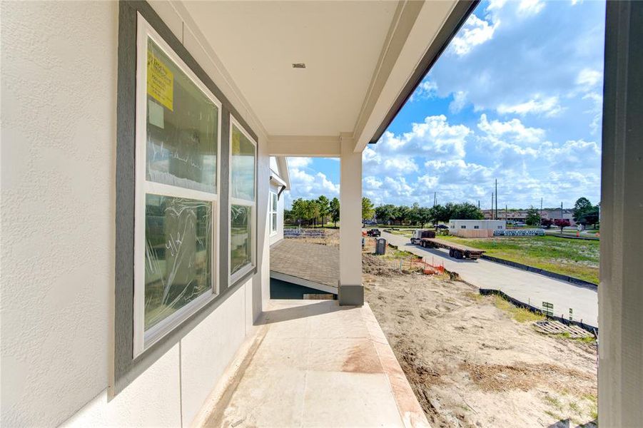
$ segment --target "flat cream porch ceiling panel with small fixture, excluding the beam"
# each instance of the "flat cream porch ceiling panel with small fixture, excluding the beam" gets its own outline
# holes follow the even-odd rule
[[[269,134],[337,136],[355,126],[398,2],[183,6]]]

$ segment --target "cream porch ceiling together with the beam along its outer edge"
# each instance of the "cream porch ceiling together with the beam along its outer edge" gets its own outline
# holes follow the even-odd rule
[[[181,4],[270,136],[368,141],[455,1]]]

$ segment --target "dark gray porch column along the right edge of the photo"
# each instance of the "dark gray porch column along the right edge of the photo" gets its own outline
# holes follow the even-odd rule
[[[643,423],[643,2],[608,1],[605,29],[599,427]]]

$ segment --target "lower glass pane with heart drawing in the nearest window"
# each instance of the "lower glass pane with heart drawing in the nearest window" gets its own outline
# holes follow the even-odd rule
[[[145,329],[211,289],[212,203],[146,195]]]

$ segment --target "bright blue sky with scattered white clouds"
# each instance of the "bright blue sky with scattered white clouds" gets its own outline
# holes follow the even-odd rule
[[[603,1],[483,1],[376,145],[376,204],[513,208],[600,195]],[[295,198],[339,193],[339,162],[291,158]]]

